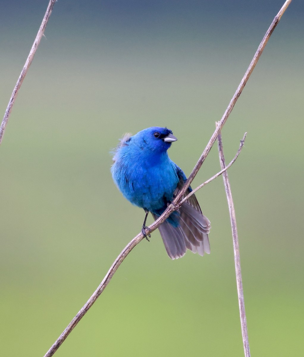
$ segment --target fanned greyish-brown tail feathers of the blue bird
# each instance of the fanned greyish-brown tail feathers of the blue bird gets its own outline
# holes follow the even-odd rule
[[[185,255],[187,249],[203,256],[210,253],[208,233],[210,221],[192,205],[184,202],[179,209],[179,225],[174,227],[167,220],[159,227],[164,246],[171,259]],[[154,219],[159,216],[152,213]]]

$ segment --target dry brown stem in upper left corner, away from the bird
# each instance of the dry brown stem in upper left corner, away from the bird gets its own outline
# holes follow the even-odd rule
[[[51,12],[53,10],[53,7],[54,7],[54,4],[55,4],[56,1],[57,0],[50,0],[49,6],[47,6],[44,18],[42,20],[42,23],[41,23],[40,29],[39,29],[39,31],[37,33],[37,36],[35,38],[35,41],[34,41],[34,43],[32,45],[30,54],[27,57],[25,65],[24,65],[24,67],[23,67],[23,69],[21,71],[21,74],[20,74],[20,76],[19,76],[19,78],[17,80],[17,83],[15,85],[15,88],[14,88],[14,90],[12,92],[11,99],[9,101],[9,104],[7,105],[7,108],[6,108],[6,111],[5,111],[3,120],[2,120],[2,124],[1,124],[1,127],[0,127],[0,144],[1,144],[1,141],[2,141],[2,136],[4,134],[4,130],[5,130],[7,121],[9,120],[9,116],[10,116],[10,113],[11,113],[11,110],[12,110],[12,106],[14,105],[15,99],[17,97],[17,94],[18,94],[18,91],[19,91],[19,89],[21,87],[21,84],[22,84],[22,82],[24,80],[24,77],[26,76],[27,70],[29,69],[29,67],[30,67],[30,65],[32,63],[32,60],[33,60],[34,55],[36,53],[37,47],[39,46],[41,37],[42,37],[42,35],[44,33],[44,30],[45,30],[45,27],[47,25],[47,21],[49,21]]]

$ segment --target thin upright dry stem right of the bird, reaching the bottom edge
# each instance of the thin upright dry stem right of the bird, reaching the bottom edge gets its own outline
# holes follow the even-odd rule
[[[218,125],[218,123],[216,123],[216,125]],[[223,169],[225,169],[226,165],[225,165],[221,133],[219,133],[217,140],[218,140],[219,161],[221,163],[221,168],[223,170]],[[235,275],[237,278],[237,290],[238,290],[240,322],[241,322],[241,327],[242,327],[244,353],[245,353],[245,357],[250,357],[242,274],[241,274],[241,268],[240,268],[240,252],[239,252],[237,221],[235,218],[234,204],[233,204],[231,187],[230,187],[227,171],[223,172],[223,180],[224,180],[224,186],[225,186],[225,191],[226,191],[226,196],[227,196],[227,201],[228,201],[230,223],[231,223],[231,229],[232,229]]]

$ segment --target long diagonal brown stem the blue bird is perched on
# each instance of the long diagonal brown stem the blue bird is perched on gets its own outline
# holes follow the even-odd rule
[[[174,201],[172,202],[171,205],[167,207],[167,209],[164,211],[164,213],[152,223],[147,229],[146,229],[146,234],[153,232],[158,228],[162,222],[164,222],[168,216],[176,209],[178,209],[178,203],[181,200],[182,196],[186,192],[188,186],[190,183],[193,181],[193,178],[196,176],[198,170],[201,168],[202,163],[206,159],[207,155],[209,154],[209,151],[211,150],[211,147],[213,146],[214,142],[216,141],[219,132],[221,131],[222,127],[224,126],[230,112],[232,111],[235,102],[237,101],[238,97],[240,96],[246,82],[249,79],[250,74],[252,73],[255,65],[257,64],[257,61],[259,60],[260,55],[262,54],[262,51],[267,44],[267,41],[269,40],[270,35],[272,34],[273,30],[277,26],[281,16],[283,15],[284,11],[287,9],[288,5],[290,4],[291,0],[288,0],[285,2],[283,5],[282,9],[279,11],[278,15],[275,16],[272,24],[270,25],[268,31],[266,32],[263,41],[261,42],[257,52],[255,53],[252,62],[250,63],[248,70],[246,71],[242,81],[240,82],[240,85],[238,86],[237,91],[235,92],[234,96],[232,97],[232,100],[229,103],[229,106],[224,113],[221,121],[219,122],[219,125],[217,129],[214,131],[211,139],[209,140],[206,149],[203,151],[202,156],[198,160],[196,166],[194,167],[191,175],[189,176],[186,184],[183,186],[182,190],[179,192],[179,194],[176,196]],[[50,348],[50,350],[46,353],[44,357],[50,357],[54,355],[54,353],[57,351],[57,349],[61,346],[62,342],[67,338],[67,336],[70,334],[70,332],[73,330],[73,328],[77,325],[77,323],[81,320],[81,318],[85,315],[85,313],[88,311],[88,309],[92,306],[92,304],[96,301],[97,297],[102,293],[102,291],[105,289],[107,286],[108,282],[111,280],[113,274],[117,270],[118,266],[122,263],[122,261],[125,259],[125,257],[128,255],[128,253],[131,252],[131,250],[143,239],[142,233],[139,233],[135,238],[132,239],[132,241],[123,249],[123,251],[120,253],[120,255],[116,258],[115,262],[111,266],[110,270],[108,271],[107,275],[101,282],[100,286],[97,288],[95,293],[90,297],[90,299],[87,301],[86,305],[82,307],[82,309],[77,313],[77,315],[74,317],[74,319],[71,321],[69,326],[62,332],[62,334],[59,336],[59,338],[56,340],[54,345]]]

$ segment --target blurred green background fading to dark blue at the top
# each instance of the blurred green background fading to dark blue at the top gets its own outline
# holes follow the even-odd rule
[[[283,2],[56,2],[0,150],[2,356],[43,356],[140,231],[118,138],[169,127],[188,175]],[[0,4],[2,115],[47,3]],[[227,162],[248,132],[229,178],[252,356],[304,355],[303,14],[293,1],[222,132]],[[217,171],[214,147],[193,186]],[[171,261],[154,232],[56,356],[243,355],[222,178],[197,196],[211,255]]]

